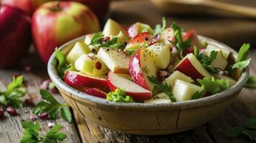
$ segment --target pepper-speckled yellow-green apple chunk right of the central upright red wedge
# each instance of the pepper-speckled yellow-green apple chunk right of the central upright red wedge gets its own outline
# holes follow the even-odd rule
[[[147,54],[153,59],[156,67],[166,69],[171,61],[170,44],[158,43],[148,46]]]

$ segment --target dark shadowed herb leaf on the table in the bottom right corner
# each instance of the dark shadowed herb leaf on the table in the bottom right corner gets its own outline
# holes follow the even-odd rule
[[[256,142],[256,117],[251,117],[241,127],[233,127],[229,130],[229,137],[247,137]]]

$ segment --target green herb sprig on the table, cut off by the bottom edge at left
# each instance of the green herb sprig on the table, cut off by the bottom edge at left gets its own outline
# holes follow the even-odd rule
[[[21,143],[57,143],[67,138],[64,132],[60,132],[62,128],[60,124],[52,127],[52,129],[44,135],[39,134],[39,130],[41,129],[39,122],[22,122],[22,127],[24,128],[24,134]]]

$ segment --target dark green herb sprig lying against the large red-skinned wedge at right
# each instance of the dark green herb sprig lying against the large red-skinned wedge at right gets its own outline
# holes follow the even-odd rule
[[[210,56],[207,56],[206,54],[199,52],[199,49],[194,46],[194,56],[196,56],[196,59],[200,61],[202,66],[204,66],[207,71],[211,71],[214,73],[218,73],[219,70],[216,67],[211,66],[212,61],[217,58],[218,51],[211,51]]]

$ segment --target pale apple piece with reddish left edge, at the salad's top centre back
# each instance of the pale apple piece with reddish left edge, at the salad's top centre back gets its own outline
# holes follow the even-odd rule
[[[134,36],[141,34],[143,32],[148,31],[150,34],[153,34],[153,29],[148,24],[142,24],[141,22],[137,22],[129,27],[128,34],[131,38]]]

